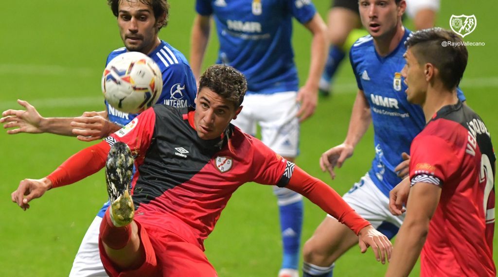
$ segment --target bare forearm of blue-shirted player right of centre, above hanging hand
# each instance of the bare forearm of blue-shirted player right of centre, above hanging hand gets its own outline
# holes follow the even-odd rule
[[[363,91],[358,90],[344,143],[355,148],[369,129],[370,122],[372,122],[370,106]]]

